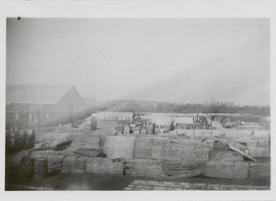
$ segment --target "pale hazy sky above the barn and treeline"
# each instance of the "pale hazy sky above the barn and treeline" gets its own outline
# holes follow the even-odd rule
[[[7,84],[97,100],[270,104],[268,19],[8,19]]]

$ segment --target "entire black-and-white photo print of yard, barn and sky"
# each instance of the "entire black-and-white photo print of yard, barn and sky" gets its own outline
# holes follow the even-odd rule
[[[14,13],[5,193],[275,196],[275,19]]]

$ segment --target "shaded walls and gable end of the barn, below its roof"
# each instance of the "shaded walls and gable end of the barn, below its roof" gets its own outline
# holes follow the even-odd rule
[[[14,112],[15,111],[15,112]],[[85,118],[85,104],[72,87],[56,104],[10,103],[6,105],[6,129],[52,126]]]

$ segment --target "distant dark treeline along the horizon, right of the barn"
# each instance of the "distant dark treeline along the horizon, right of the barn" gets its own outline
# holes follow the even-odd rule
[[[162,113],[242,113],[270,116],[270,106],[240,106],[233,102],[169,103],[143,100],[101,100],[83,98],[90,109],[108,112],[162,112]]]

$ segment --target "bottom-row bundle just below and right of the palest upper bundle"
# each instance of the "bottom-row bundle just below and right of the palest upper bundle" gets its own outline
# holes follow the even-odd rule
[[[127,176],[165,177],[161,161],[152,159],[130,159],[126,161]]]

